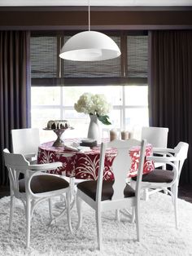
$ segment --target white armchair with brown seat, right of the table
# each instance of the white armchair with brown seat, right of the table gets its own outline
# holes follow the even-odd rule
[[[177,217],[177,194],[178,184],[181,175],[182,166],[187,158],[189,144],[180,142],[175,148],[159,148],[155,151],[155,156],[146,157],[148,160],[154,162],[163,162],[166,166],[171,166],[172,170],[155,169],[148,174],[142,175],[142,189],[146,191],[147,198],[156,192],[165,191],[172,196],[172,203],[174,205],[175,225],[178,227]],[[135,182],[137,177],[132,179]]]

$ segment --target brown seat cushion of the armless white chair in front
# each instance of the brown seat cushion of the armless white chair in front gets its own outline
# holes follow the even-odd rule
[[[113,195],[112,184],[114,181],[103,180],[102,188],[102,201],[111,200]],[[94,201],[96,201],[96,191],[97,191],[97,181],[88,180],[78,183],[77,188],[79,188],[86,195],[90,196]],[[135,196],[135,191],[128,184],[124,188],[124,197]]]

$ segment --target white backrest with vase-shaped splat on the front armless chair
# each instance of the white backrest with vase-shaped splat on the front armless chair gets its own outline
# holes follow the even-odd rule
[[[140,152],[140,161],[137,172],[137,185],[136,185],[136,193],[138,192],[138,183],[141,183],[142,179],[142,170],[144,164],[144,157],[146,152],[146,140],[138,141],[136,139],[129,140],[113,140],[110,143],[102,143],[101,152],[100,152],[100,165],[98,170],[98,187],[97,187],[97,196],[96,201],[101,200],[102,193],[102,185],[103,185],[103,169],[104,169],[104,160],[105,160],[105,152],[107,148],[116,148],[117,155],[112,163],[112,172],[114,174],[115,181],[113,183],[113,196],[111,201],[116,201],[120,199],[124,199],[124,187],[126,184],[126,179],[128,178],[129,170],[132,164],[132,159],[129,155],[130,148],[135,146],[141,147]]]

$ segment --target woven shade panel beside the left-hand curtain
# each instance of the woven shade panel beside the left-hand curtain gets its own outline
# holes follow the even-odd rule
[[[57,38],[30,38],[30,59],[32,78],[57,76]]]

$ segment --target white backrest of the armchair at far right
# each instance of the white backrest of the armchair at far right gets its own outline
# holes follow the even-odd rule
[[[178,173],[181,174],[181,169],[184,164],[185,159],[187,158],[189,144],[185,142],[179,142],[174,148],[174,156],[179,159]]]

